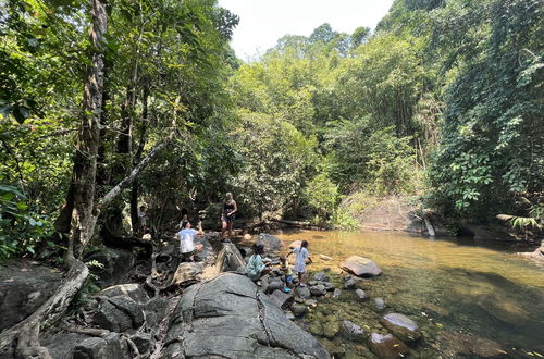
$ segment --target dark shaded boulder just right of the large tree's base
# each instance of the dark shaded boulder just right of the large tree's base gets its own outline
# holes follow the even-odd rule
[[[89,270],[98,275],[98,285],[108,287],[119,284],[123,276],[134,267],[136,257],[125,250],[102,248],[91,252],[85,258],[85,261],[98,261],[101,267],[90,267]]]

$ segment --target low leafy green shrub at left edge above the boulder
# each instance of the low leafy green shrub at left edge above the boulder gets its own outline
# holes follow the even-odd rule
[[[20,189],[0,185],[0,260],[34,255],[36,244],[52,233],[48,216],[32,209]]]

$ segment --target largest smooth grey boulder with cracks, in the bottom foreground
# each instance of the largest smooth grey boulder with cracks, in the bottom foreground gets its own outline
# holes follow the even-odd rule
[[[163,358],[330,358],[251,280],[234,273],[189,287],[164,343]]]

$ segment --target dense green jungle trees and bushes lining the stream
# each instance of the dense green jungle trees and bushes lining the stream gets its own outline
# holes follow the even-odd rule
[[[354,227],[398,195],[537,226],[542,12],[396,0],[374,30],[323,24],[244,63],[213,0],[2,0],[0,257],[72,263],[143,203],[163,230],[219,218],[225,191],[246,219]]]

